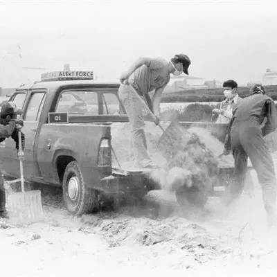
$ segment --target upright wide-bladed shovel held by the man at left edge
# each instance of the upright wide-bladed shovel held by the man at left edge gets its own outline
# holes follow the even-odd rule
[[[19,152],[22,153],[21,132],[18,132]],[[10,220],[15,223],[29,223],[42,220],[42,196],[40,190],[24,189],[23,157],[19,157],[21,193],[8,195],[8,212]]]

